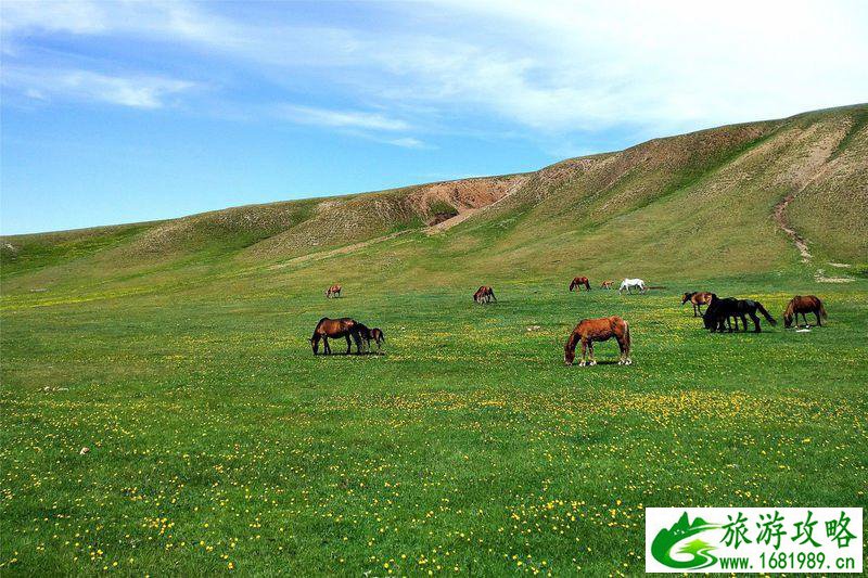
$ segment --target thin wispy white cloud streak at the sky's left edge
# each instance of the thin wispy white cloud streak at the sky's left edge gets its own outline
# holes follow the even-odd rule
[[[108,76],[80,69],[7,68],[3,86],[42,101],[97,101],[135,108],[159,108],[193,82],[154,76]]]

